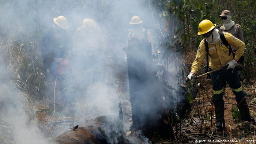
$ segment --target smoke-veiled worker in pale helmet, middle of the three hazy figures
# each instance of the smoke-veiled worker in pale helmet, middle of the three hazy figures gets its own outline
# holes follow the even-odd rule
[[[83,89],[88,88],[89,81],[99,80],[105,61],[105,50],[101,29],[93,19],[84,19],[74,36],[75,81]]]

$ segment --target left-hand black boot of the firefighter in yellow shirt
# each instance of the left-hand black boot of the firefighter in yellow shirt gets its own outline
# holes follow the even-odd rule
[[[215,115],[216,115],[216,127],[217,132],[225,131],[225,119],[224,119],[224,101],[214,101]]]

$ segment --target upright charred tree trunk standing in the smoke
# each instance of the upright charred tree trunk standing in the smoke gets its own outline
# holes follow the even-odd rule
[[[127,63],[132,106],[131,130],[159,130],[174,139],[153,69],[150,42],[132,38],[127,48]]]

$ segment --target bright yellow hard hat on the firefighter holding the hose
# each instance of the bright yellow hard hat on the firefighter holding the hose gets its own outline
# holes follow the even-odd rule
[[[198,35],[206,34],[212,29],[216,27],[216,24],[213,24],[210,20],[205,19],[202,22],[199,23],[198,26]]]

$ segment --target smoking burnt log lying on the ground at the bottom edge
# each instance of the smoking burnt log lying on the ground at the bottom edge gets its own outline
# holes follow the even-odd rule
[[[70,129],[52,141],[54,144],[118,144],[130,143],[123,123],[114,116],[99,116]]]

